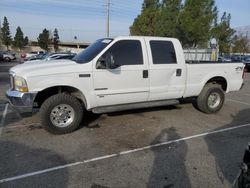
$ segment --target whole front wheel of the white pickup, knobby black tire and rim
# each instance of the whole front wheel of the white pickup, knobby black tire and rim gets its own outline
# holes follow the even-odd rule
[[[52,134],[70,133],[80,126],[83,106],[71,95],[56,94],[42,104],[40,117],[42,125],[48,132]]]

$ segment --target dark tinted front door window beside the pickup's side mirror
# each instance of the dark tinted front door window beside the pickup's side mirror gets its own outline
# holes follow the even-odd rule
[[[121,40],[116,42],[105,52],[111,53],[116,64],[119,65],[140,65],[143,64],[141,42],[138,40]]]

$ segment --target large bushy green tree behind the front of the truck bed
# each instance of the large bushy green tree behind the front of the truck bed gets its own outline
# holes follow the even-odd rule
[[[178,19],[178,36],[183,46],[207,46],[216,16],[214,0],[186,0]]]

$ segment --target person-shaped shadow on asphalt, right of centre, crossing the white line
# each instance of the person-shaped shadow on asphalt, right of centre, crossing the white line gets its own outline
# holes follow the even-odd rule
[[[171,127],[164,129],[151,144],[179,138],[180,136],[176,132],[176,129]],[[191,187],[185,167],[187,150],[188,146],[184,141],[170,144],[167,148],[153,148],[152,151],[154,152],[155,159],[147,187]]]

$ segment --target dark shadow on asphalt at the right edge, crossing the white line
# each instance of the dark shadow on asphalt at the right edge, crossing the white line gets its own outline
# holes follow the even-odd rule
[[[233,121],[230,124],[214,131],[247,124],[250,122],[249,114],[250,109],[242,110],[233,116]],[[240,170],[240,163],[242,162],[245,148],[250,141],[250,135],[244,130],[247,129],[241,128],[228,131],[227,134],[218,133],[205,137],[208,151],[215,158],[216,173],[222,185],[226,185],[227,182],[232,185]],[[236,139],[237,142],[235,141]]]

